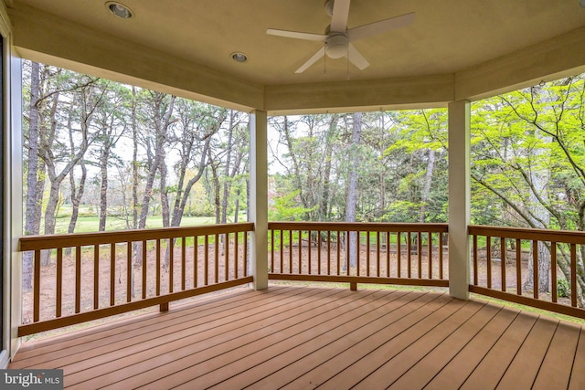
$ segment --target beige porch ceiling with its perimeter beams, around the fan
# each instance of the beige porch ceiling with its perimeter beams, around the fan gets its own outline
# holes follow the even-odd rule
[[[267,111],[436,105],[585,65],[578,0],[352,0],[349,28],[415,21],[356,41],[367,69],[327,58],[301,74],[322,44],[266,29],[322,34],[324,0],[122,0],[128,20],[104,0],[6,3],[24,57]],[[249,61],[233,61],[236,51]]]

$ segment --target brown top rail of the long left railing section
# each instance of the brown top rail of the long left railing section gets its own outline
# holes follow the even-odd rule
[[[197,227],[163,227],[155,229],[116,230],[92,233],[70,233],[59,235],[23,236],[19,239],[20,250],[84,247],[129,241],[193,237],[224,233],[239,233],[254,230],[250,222],[225,225],[203,225]]]

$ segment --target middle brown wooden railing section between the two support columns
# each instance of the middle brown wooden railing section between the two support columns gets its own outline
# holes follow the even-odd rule
[[[269,222],[269,279],[447,287],[446,224]],[[352,254],[353,253],[353,254]]]

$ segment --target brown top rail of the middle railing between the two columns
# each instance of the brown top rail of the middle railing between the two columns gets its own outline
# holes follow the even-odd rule
[[[273,230],[332,230],[332,231],[379,231],[379,232],[443,232],[447,224],[395,223],[395,222],[281,222],[268,223]]]

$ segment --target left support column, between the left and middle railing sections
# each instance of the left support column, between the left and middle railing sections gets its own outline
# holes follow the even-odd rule
[[[268,153],[266,111],[250,113],[250,265],[254,290],[268,288]]]

